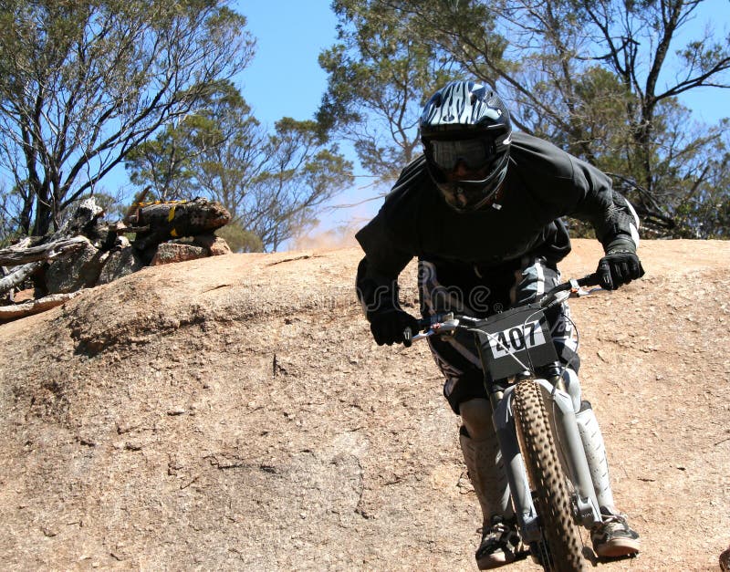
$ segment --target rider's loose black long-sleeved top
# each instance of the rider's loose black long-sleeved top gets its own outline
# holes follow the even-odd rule
[[[534,254],[556,264],[570,252],[559,220],[565,215],[589,222],[604,247],[621,234],[635,243],[638,220],[610,178],[545,140],[513,134],[501,195],[498,210],[457,213],[433,183],[424,157],[412,161],[381,211],[356,235],[365,251],[360,300],[367,301],[373,286],[393,284],[414,256],[489,267]]]

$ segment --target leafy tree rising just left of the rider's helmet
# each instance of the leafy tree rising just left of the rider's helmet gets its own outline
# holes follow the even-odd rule
[[[353,142],[362,166],[390,181],[419,153],[418,119],[448,62],[378,0],[335,0],[338,44],[319,65],[328,89],[318,121]]]

